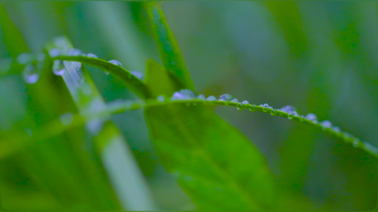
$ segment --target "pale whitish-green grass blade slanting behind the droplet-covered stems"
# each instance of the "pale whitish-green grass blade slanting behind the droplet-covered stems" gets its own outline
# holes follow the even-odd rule
[[[48,50],[54,48],[67,53],[67,50],[73,47],[67,38],[59,37],[48,45]],[[104,61],[104,63],[107,62]],[[70,90],[79,112],[86,114],[104,110],[104,100],[96,90],[84,65],[74,64],[70,61],[64,61],[64,64],[65,73],[63,73],[62,78]],[[120,69],[111,70],[120,71]],[[103,118],[90,120],[86,123],[86,126],[94,139],[95,151],[101,155],[123,206],[130,210],[151,210],[154,208],[148,185],[139,170],[138,164],[135,162],[123,136],[110,121],[109,114]],[[118,163],[120,160],[123,161],[123,164]]]

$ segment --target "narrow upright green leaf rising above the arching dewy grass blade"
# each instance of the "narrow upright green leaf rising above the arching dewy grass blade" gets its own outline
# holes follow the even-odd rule
[[[174,90],[185,88],[194,90],[194,84],[191,81],[184,57],[182,57],[177,41],[167,25],[167,20],[165,20],[160,4],[148,2],[145,4],[145,10],[151,23],[152,33],[155,37],[162,64],[167,69],[172,82],[175,83],[176,88]]]

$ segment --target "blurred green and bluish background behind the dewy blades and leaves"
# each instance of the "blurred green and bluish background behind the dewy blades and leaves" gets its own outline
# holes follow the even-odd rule
[[[59,35],[67,35],[83,52],[121,61],[130,71],[144,72],[146,59],[160,61],[140,3],[0,6],[0,64],[22,52],[41,52]],[[275,108],[294,105],[301,114],[316,113],[377,146],[378,18],[373,3],[176,1],[162,8],[199,93],[230,93]],[[9,30],[11,23],[18,33]],[[4,66],[0,135],[16,130],[33,134],[65,112],[77,112],[60,76],[42,73],[30,85]],[[112,76],[88,69],[106,102],[136,99]],[[287,119],[230,107],[215,110],[267,158],[279,187],[287,191],[277,203],[282,208],[361,211],[376,206],[377,158]],[[148,182],[155,201],[149,209],[194,209],[157,161],[143,112],[115,114],[112,121]],[[101,164],[83,147],[88,140],[83,127],[77,127],[0,158],[1,205],[11,211],[121,208],[124,195],[109,190]]]

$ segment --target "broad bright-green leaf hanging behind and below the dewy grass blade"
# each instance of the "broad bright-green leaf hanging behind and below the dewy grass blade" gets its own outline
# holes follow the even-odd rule
[[[164,68],[148,66],[150,88],[169,84]],[[159,70],[159,74],[154,73]],[[237,129],[204,105],[145,108],[150,136],[163,166],[201,210],[274,206],[274,178],[265,158]]]

